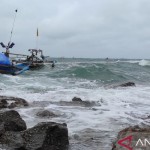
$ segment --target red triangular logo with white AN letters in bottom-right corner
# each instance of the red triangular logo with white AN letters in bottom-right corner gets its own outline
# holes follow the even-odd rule
[[[128,137],[125,137],[121,140],[119,140],[117,143],[126,148],[126,150],[133,150],[133,147],[131,146],[131,142],[133,140],[133,136],[128,136]],[[147,147],[147,146],[150,146],[150,141],[148,139],[138,139],[138,141],[136,142],[135,144],[135,147]]]

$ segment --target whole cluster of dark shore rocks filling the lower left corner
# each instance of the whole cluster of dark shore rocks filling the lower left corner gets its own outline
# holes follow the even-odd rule
[[[12,104],[13,103],[13,104]],[[0,97],[0,149],[3,150],[67,150],[68,129],[65,123],[41,122],[27,129],[25,121],[15,110],[28,106],[19,98]]]

